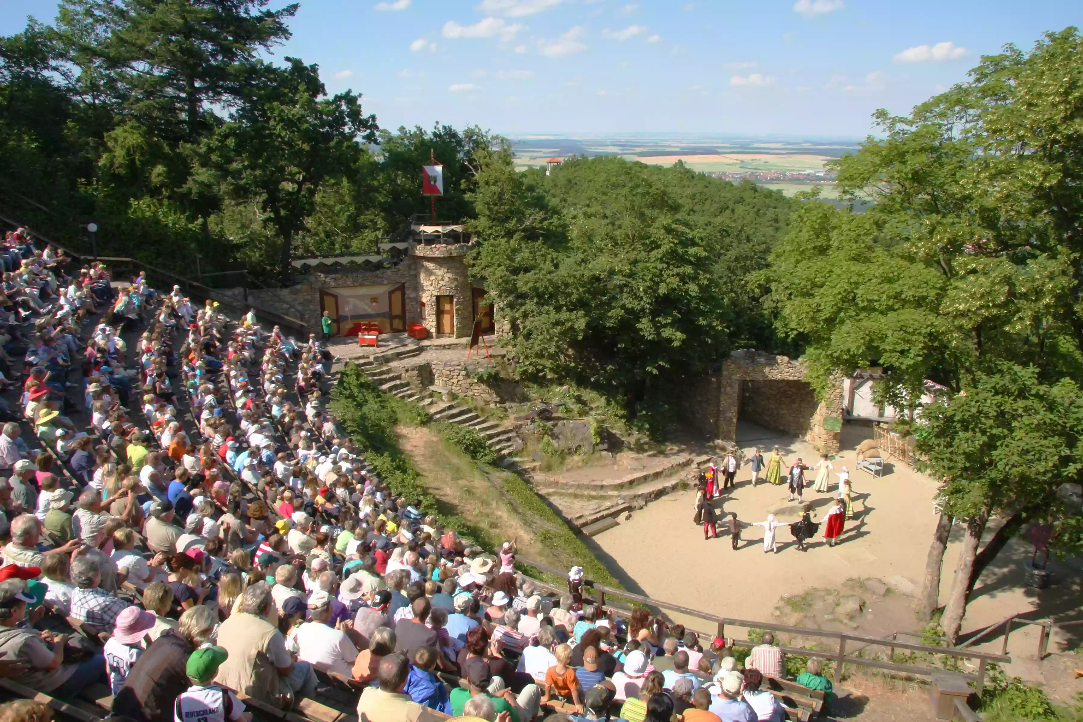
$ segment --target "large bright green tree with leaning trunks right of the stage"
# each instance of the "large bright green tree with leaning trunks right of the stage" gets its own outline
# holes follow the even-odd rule
[[[913,410],[925,378],[964,398],[989,379],[1020,381],[1006,369],[1033,367],[1038,382],[1051,388],[1079,381],[1083,166],[1073,159],[1083,152],[1081,45],[1074,28],[1046,35],[1029,53],[1009,45],[910,116],[879,111],[884,137],[870,137],[835,163],[843,197],[875,200],[872,210],[859,218],[808,205],[791,219],[765,275],[768,301],[780,329],[807,340],[821,390],[834,369],[883,366],[888,399]],[[1007,437],[1016,423],[1010,415],[991,417],[1005,430],[999,437]],[[968,434],[988,433],[966,431],[976,421],[957,417],[944,428],[953,434],[948,438],[962,449]],[[927,423],[919,418],[916,428]],[[1071,469],[1058,467],[1036,486],[1019,478],[1005,486],[988,459],[971,459],[966,475],[942,465],[944,459],[935,455],[928,467],[949,481],[940,491],[944,511],[923,612],[937,604],[947,535],[958,516],[967,539],[942,619],[954,639],[975,570],[1003,546],[994,539],[988,554],[978,551],[987,521],[996,514],[1010,521],[1023,510],[1010,530],[1046,513],[1049,488],[1071,481]],[[1006,507],[1009,493],[1017,496]]]

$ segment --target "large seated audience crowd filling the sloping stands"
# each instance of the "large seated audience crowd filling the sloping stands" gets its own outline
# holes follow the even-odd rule
[[[332,688],[368,722],[785,719],[770,634],[739,664],[396,496],[327,409],[314,336],[99,263],[68,275],[23,229],[0,263],[0,675],[108,685],[140,722],[247,722]],[[815,660],[797,683],[831,692]]]

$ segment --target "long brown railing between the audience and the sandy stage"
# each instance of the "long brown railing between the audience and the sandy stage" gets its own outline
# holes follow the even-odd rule
[[[533,562],[531,560],[523,559],[522,556],[519,557],[519,561],[521,561],[524,564],[529,564],[530,566],[532,566],[532,567],[534,567],[536,569],[539,569],[542,572],[546,572],[548,574],[552,574],[552,575],[560,576],[560,577],[564,576],[564,573],[561,572],[560,569],[554,569],[554,568],[552,568],[552,567],[550,567],[550,566],[548,566],[546,564],[542,564],[542,563],[538,563],[538,562]],[[539,586],[542,586],[542,587],[544,587],[546,589],[556,591],[558,593],[566,593],[566,591],[567,591],[566,589],[561,589],[559,587],[554,587],[553,585],[550,585],[550,583],[545,582],[545,581],[539,581],[539,580],[536,580],[536,579],[532,579],[532,581],[536,582],[537,585],[539,585]],[[778,625],[778,623],[770,622],[770,621],[753,621],[753,620],[749,620],[749,619],[735,619],[735,618],[732,618],[732,617],[720,617],[720,616],[717,616],[717,615],[714,615],[714,614],[708,614],[706,612],[700,612],[699,609],[692,609],[692,608],[689,608],[687,606],[682,606],[680,604],[673,604],[670,602],[662,602],[662,601],[658,601],[658,600],[655,600],[655,599],[651,599],[649,596],[643,596],[641,594],[634,594],[634,593],[628,592],[628,591],[623,590],[623,589],[614,589],[612,587],[605,587],[603,585],[598,585],[598,583],[595,585],[595,588],[598,589],[598,590],[600,590],[600,591],[605,592],[606,594],[613,594],[615,596],[623,598],[623,599],[629,600],[631,602],[643,604],[643,605],[645,605],[648,607],[657,608],[657,609],[666,609],[666,611],[669,611],[669,612],[678,612],[680,614],[687,615],[689,617],[693,617],[695,619],[702,619],[704,621],[714,622],[717,626],[717,631],[715,633],[705,632],[703,630],[690,630],[690,631],[695,631],[697,634],[701,634],[702,636],[708,636],[708,638],[719,636],[719,638],[725,639],[726,638],[726,626],[729,625],[730,627],[741,627],[743,629],[757,629],[757,630],[764,630],[764,631],[780,632],[780,633],[783,633],[783,634],[791,634],[791,635],[795,635],[795,636],[811,636],[811,638],[818,638],[818,639],[823,639],[823,640],[830,640],[831,643],[832,643],[832,645],[835,646],[835,649],[826,651],[826,649],[817,649],[817,648],[811,648],[811,647],[790,647],[790,646],[781,646],[781,645],[780,645],[779,648],[782,649],[782,652],[785,653],[785,654],[799,655],[799,656],[805,656],[805,657],[819,657],[819,658],[822,658],[822,659],[828,659],[828,660],[834,661],[835,662],[835,683],[836,684],[839,683],[839,682],[841,682],[841,679],[843,679],[843,667],[845,665],[857,665],[859,667],[871,667],[873,669],[882,669],[882,670],[889,671],[889,672],[899,672],[899,673],[903,673],[903,674],[913,674],[913,675],[918,675],[918,677],[930,677],[934,672],[943,672],[944,671],[941,668],[935,668],[935,667],[917,667],[915,665],[898,665],[898,664],[895,664],[895,661],[893,661],[893,659],[895,659],[895,651],[896,649],[906,649],[909,652],[917,652],[917,653],[927,654],[927,655],[930,655],[930,656],[931,655],[944,655],[944,656],[954,657],[954,658],[957,658],[957,659],[973,659],[973,660],[977,661],[977,664],[978,664],[978,671],[977,672],[975,672],[975,673],[957,672],[957,674],[961,678],[963,678],[966,681],[968,681],[968,682],[974,682],[978,695],[981,695],[981,693],[984,691],[986,673],[987,673],[987,670],[988,670],[989,662],[991,662],[991,661],[995,661],[995,662],[1010,662],[1012,661],[1012,657],[1009,657],[1007,655],[996,655],[996,654],[989,654],[989,653],[984,653],[984,652],[975,652],[973,649],[967,649],[967,648],[964,648],[964,647],[932,646],[932,645],[929,645],[929,644],[917,644],[915,642],[903,642],[903,641],[899,641],[897,639],[897,636],[898,636],[897,634],[895,635],[893,639],[889,639],[889,638],[869,636],[867,634],[851,634],[849,632],[834,632],[834,631],[830,631],[830,630],[825,630],[825,629],[812,629],[810,627],[791,627],[788,625]],[[606,603],[606,606],[611,607],[611,608],[617,608],[617,611],[621,612],[622,614],[627,614],[627,611],[619,609],[618,607],[614,607],[613,605],[611,605],[609,603]],[[687,625],[686,625],[686,628],[687,628]],[[857,644],[860,644],[861,646],[860,647],[854,647],[853,645],[857,645]],[[748,642],[747,646],[752,646],[752,645],[753,645],[753,643]],[[742,646],[746,646],[746,645],[742,645]],[[865,658],[865,657],[859,657],[859,656],[856,655],[857,652],[860,652],[860,651],[862,651],[862,649],[864,649],[865,647],[869,647],[869,646],[888,647],[891,651],[891,657],[890,657],[890,659],[892,659],[892,661],[883,661],[883,660],[879,660],[879,659],[870,659],[870,658]]]

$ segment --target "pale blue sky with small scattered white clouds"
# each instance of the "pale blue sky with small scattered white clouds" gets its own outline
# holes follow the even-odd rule
[[[274,5],[285,4],[272,0]],[[3,0],[0,32],[48,0]],[[980,55],[1083,21],[1078,0],[301,0],[276,55],[381,127],[861,137]]]

